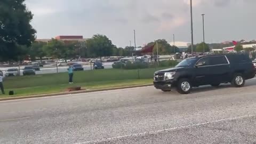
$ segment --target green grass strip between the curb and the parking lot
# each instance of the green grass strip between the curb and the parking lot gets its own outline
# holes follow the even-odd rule
[[[166,68],[166,67],[165,67]],[[7,77],[4,79],[6,93],[13,90],[16,96],[63,92],[70,86],[82,86],[82,89],[100,89],[106,87],[150,84],[155,71],[165,68],[148,69],[101,69],[75,71],[74,83],[68,84],[68,74],[45,74],[36,76]],[[0,95],[0,98],[8,95]]]

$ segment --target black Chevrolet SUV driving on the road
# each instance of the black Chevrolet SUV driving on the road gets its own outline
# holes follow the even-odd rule
[[[154,86],[164,92],[176,87],[181,94],[190,93],[201,85],[219,86],[231,83],[244,86],[246,79],[255,76],[255,68],[246,54],[207,55],[181,61],[170,69],[156,71]]]

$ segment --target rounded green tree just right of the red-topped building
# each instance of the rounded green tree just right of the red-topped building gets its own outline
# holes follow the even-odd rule
[[[87,41],[87,48],[90,52],[90,57],[110,56],[112,54],[114,45],[110,39],[105,35],[94,35]]]

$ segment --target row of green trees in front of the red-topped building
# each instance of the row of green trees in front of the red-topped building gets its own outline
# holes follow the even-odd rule
[[[105,35],[94,35],[86,42],[60,41],[52,38],[49,42],[33,42],[27,49],[32,60],[43,57],[55,59],[102,58],[107,56],[128,56],[133,46],[116,47]]]

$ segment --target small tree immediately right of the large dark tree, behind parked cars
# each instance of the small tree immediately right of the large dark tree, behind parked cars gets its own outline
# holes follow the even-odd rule
[[[39,58],[42,62],[42,58],[46,56],[45,51],[43,50],[43,47],[46,46],[47,43],[45,42],[34,42],[29,47],[29,57],[32,60],[35,60],[36,58]]]

